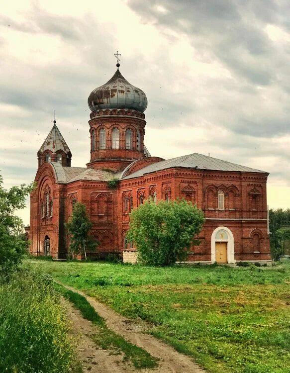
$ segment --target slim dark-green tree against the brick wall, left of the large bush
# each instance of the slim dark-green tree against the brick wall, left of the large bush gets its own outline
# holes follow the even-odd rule
[[[71,252],[76,255],[84,254],[87,259],[87,251],[96,250],[97,241],[89,234],[93,224],[83,203],[75,204],[72,219],[65,226],[70,235]]]

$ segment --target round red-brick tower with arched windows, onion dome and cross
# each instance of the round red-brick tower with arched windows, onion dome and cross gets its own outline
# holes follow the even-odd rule
[[[150,157],[144,146],[147,97],[132,86],[117,70],[104,85],[88,98],[91,160],[88,167],[124,170],[136,159]]]

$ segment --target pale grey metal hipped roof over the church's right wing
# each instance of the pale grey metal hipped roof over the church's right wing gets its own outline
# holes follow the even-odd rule
[[[138,178],[145,174],[166,170],[170,168],[192,168],[199,170],[212,170],[212,171],[236,171],[236,172],[254,172],[268,174],[265,171],[252,169],[250,167],[237,165],[228,161],[222,161],[217,158],[205,156],[203,154],[193,153],[182,157],[168,159],[154,163],[150,166],[144,167],[143,169],[128,175],[124,179]]]

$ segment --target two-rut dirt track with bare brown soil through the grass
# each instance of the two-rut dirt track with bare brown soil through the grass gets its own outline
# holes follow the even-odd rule
[[[64,286],[85,296],[97,313],[106,320],[106,325],[109,329],[160,359],[159,367],[156,369],[136,370],[127,363],[123,363],[120,355],[114,356],[108,350],[98,349],[90,338],[91,334],[97,334],[97,327],[84,319],[78,310],[69,306],[74,330],[76,333],[80,333],[80,357],[84,362],[85,372],[205,373],[190,357],[180,354],[157,338],[142,333],[142,330],[149,329],[146,323],[123,317],[82,291],[67,285]]]

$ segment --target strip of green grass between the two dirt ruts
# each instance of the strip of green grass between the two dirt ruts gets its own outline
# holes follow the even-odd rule
[[[99,347],[104,350],[114,348],[116,353],[122,352],[124,354],[123,360],[131,362],[137,369],[156,368],[158,366],[157,359],[152,357],[147,351],[127,342],[120,335],[108,329],[104,319],[98,315],[84,296],[68,290],[58,283],[54,283],[54,287],[70,302],[74,303],[86,319],[98,326],[99,332],[91,336],[91,338]]]

